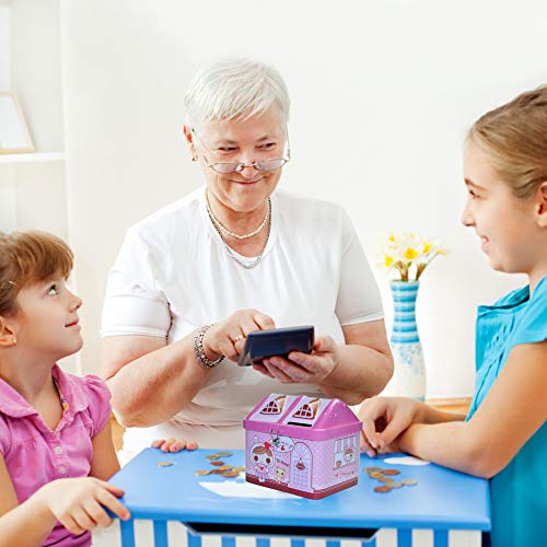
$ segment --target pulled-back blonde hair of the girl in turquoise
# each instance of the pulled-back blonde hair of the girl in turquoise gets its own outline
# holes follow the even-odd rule
[[[513,195],[526,199],[547,181],[547,85],[481,116],[467,133]]]

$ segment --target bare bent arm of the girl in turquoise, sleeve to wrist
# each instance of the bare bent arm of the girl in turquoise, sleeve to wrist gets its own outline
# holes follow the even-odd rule
[[[472,475],[501,472],[547,419],[547,340],[515,346],[468,422],[412,423],[404,452]]]

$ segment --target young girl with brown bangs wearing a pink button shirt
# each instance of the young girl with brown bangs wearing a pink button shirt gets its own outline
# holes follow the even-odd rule
[[[89,531],[112,522],[104,508],[130,516],[106,482],[119,469],[108,388],[56,364],[83,344],[82,301],[66,283],[72,260],[53,235],[0,232],[1,547],[89,546]]]

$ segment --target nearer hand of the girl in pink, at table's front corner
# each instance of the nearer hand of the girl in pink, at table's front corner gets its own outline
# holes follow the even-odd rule
[[[127,521],[131,514],[117,498],[120,488],[93,477],[57,479],[43,486],[39,497],[50,513],[71,534],[80,535],[98,525],[109,526],[113,519],[104,508]],[[103,507],[102,507],[103,505]]]

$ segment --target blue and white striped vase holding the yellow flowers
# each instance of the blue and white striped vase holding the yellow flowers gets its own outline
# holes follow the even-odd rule
[[[391,281],[394,317],[389,338],[395,370],[384,393],[412,397],[426,397],[426,365],[418,326],[416,325],[416,299],[419,281]]]

